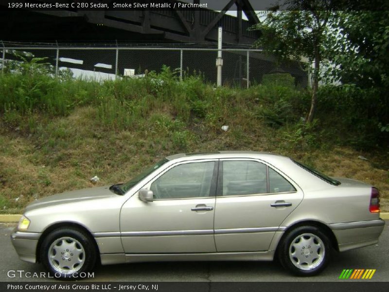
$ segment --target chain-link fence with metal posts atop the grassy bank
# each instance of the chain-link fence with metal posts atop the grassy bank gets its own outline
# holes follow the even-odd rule
[[[45,58],[58,74],[69,68],[75,77],[113,79],[159,73],[169,66],[179,77],[201,74],[206,82],[216,83],[217,49],[156,47],[12,47],[3,45],[1,71],[13,62]],[[223,49],[222,84],[249,87],[262,82],[265,74],[290,73],[296,85],[306,87],[308,74],[298,63],[277,64],[262,50]]]

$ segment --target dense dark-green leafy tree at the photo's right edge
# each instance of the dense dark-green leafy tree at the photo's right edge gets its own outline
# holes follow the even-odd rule
[[[364,108],[369,109],[366,117],[385,134],[389,132],[389,3],[375,4],[376,10],[336,12],[331,22],[336,34],[327,43],[327,58],[335,66],[327,75],[358,89],[358,99],[365,100]]]

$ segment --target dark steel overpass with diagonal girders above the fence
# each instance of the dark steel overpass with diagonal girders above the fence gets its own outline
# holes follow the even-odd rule
[[[200,3],[200,0],[193,1]],[[112,4],[114,1],[105,2]],[[237,11],[237,17],[226,14],[231,9]],[[248,20],[243,19],[243,13]],[[258,22],[250,0],[229,0],[220,12],[204,8],[79,10],[71,6],[38,11],[1,9],[0,25],[3,29],[0,39],[34,42],[159,41],[200,44],[217,41],[217,28],[222,26],[224,43],[250,45],[259,37],[259,32],[250,31],[249,27]]]

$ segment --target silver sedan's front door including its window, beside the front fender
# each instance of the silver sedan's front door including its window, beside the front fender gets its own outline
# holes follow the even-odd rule
[[[217,163],[177,163],[147,183],[154,201],[135,193],[122,207],[126,254],[215,252],[213,217]]]

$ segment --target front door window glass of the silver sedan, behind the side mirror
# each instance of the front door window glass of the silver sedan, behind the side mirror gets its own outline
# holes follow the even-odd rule
[[[155,180],[150,190],[156,200],[209,197],[214,165],[213,161],[179,164]]]

